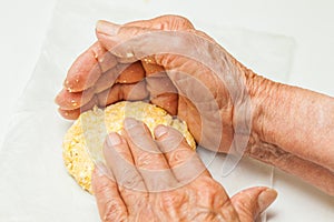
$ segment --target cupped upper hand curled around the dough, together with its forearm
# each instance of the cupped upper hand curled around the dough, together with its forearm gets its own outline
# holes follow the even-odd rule
[[[97,37],[56,99],[65,118],[148,99],[204,148],[245,152],[334,195],[333,98],[256,75],[181,17],[100,21]]]

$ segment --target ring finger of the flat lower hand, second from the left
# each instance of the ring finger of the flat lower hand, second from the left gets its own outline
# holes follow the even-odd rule
[[[110,133],[105,143],[104,154],[126,205],[132,209],[141,201],[146,201],[147,189],[135,167],[127,141],[117,133]]]

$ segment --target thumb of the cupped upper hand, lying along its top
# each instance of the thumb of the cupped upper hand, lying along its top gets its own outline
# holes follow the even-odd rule
[[[157,60],[158,54],[163,58],[165,54],[202,58],[202,54],[198,54],[198,51],[202,51],[198,46],[207,50],[208,44],[206,38],[194,31],[118,26],[107,21],[97,23],[96,36],[99,42],[120,62],[134,62],[150,56],[155,56],[151,59]],[[160,64],[160,62],[156,63]]]

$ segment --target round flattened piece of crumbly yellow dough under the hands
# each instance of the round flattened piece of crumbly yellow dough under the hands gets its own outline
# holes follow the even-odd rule
[[[102,148],[109,132],[120,133],[125,118],[135,118],[153,130],[158,124],[170,125],[183,133],[195,149],[187,124],[174,119],[165,110],[145,102],[118,102],[105,110],[94,109],[82,113],[65,135],[62,158],[68,172],[82,189],[91,193],[90,181],[95,161],[104,161]]]

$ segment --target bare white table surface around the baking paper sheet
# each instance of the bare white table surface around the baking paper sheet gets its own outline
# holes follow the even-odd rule
[[[291,84],[334,97],[334,1],[224,1],[224,7],[212,8],[213,14],[219,13],[222,23],[281,33],[295,39],[296,49],[288,81]],[[1,0],[0,143],[3,141],[14,103],[38,61],[55,3],[56,0]],[[189,10],[193,10],[190,3]],[[194,10],[200,12],[200,9]],[[275,172],[275,188],[279,198],[272,205],[268,221],[331,221],[321,219],[328,212],[311,213],[312,204],[307,202],[327,204],[333,203],[333,199],[278,171]],[[330,210],[334,211],[334,206]]]

